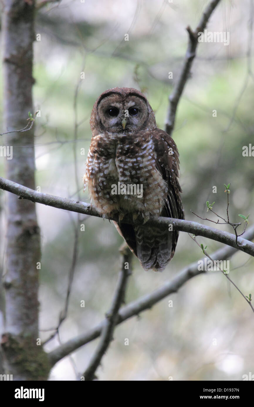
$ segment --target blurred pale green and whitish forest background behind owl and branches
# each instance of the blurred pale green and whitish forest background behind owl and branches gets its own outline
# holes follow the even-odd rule
[[[197,26],[206,4],[203,0],[63,0],[38,10],[34,105],[41,112],[35,131],[36,185],[41,192],[88,202],[82,176],[91,140],[89,118],[104,90],[115,86],[141,90],[155,111],[158,127],[164,128],[168,96],[186,52],[186,26]],[[250,213],[253,223],[254,158],[242,155],[243,146],[254,145],[252,26],[253,0],[221,1],[207,28],[229,32],[230,43],[199,44],[179,103],[172,136],[180,154],[180,184],[188,220],[200,221],[190,210],[207,216],[207,200],[215,201],[214,210],[224,217],[227,197],[223,184],[231,183],[230,219],[238,222],[239,213]],[[2,159],[0,174],[4,174]],[[217,187],[215,194],[213,186]],[[60,327],[64,343],[104,318],[117,281],[122,239],[109,221],[82,216],[77,220],[77,214],[36,207],[42,234],[42,341],[53,332],[48,329],[57,326],[64,308],[75,225],[85,225],[85,231],[77,229],[68,317]],[[3,193],[0,208],[2,263]],[[228,226],[220,228],[232,232]],[[221,247],[208,239],[198,241],[208,245],[210,254]],[[163,273],[145,272],[133,258],[126,302],[160,287],[201,257],[200,248],[180,232],[176,254]],[[230,277],[245,295],[254,294],[253,264],[253,258],[242,252],[230,259]],[[243,374],[254,373],[254,315],[219,271],[193,278],[150,311],[121,324],[114,339],[97,370],[99,380],[161,381],[172,376],[173,380],[239,381]],[[50,379],[76,380],[97,341],[57,363]],[[51,350],[59,343],[55,337],[45,348]]]

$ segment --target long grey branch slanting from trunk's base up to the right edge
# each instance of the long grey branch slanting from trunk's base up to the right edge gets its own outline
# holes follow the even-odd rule
[[[252,227],[250,227],[249,230],[245,232],[245,238],[246,239],[254,238],[254,225],[252,225]],[[236,252],[237,249],[226,246],[211,254],[211,257],[214,260],[226,260]],[[121,324],[121,322],[126,321],[126,319],[139,315],[139,313],[141,313],[142,311],[151,309],[153,305],[163,300],[163,298],[167,297],[169,294],[177,292],[186,281],[202,273],[205,273],[205,271],[198,270],[198,262],[188,265],[187,267],[182,269],[177,274],[177,276],[163,284],[161,287],[159,287],[152,293],[144,295],[138,300],[130,302],[130,304],[121,308],[119,311],[119,319],[117,321],[117,324]],[[105,319],[102,322],[100,322],[97,326],[95,326],[95,328],[92,328],[88,332],[83,333],[73,339],[70,339],[65,344],[49,352],[48,356],[51,366],[55,365],[55,363],[60,361],[62,358],[64,358],[71,352],[74,352],[76,349],[99,337],[101,335],[104,324]]]

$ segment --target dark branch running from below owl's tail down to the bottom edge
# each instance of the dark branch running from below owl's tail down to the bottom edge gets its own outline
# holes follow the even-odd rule
[[[110,311],[106,314],[106,319],[104,321],[104,326],[102,328],[102,334],[97,349],[93,354],[88,368],[84,372],[84,378],[86,381],[92,381],[93,379],[96,379],[95,371],[101,363],[102,357],[113,339],[115,325],[117,324],[117,320],[119,319],[118,311],[121,304],[124,302],[126,284],[128,276],[130,276],[131,274],[131,268],[129,266],[132,257],[132,253],[127,245],[124,245],[124,248],[121,249],[121,257],[122,265],[121,271],[119,273],[117,287],[115,290],[115,295]]]

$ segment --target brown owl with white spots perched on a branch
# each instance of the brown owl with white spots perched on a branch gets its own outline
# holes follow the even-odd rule
[[[179,232],[146,226],[150,216],[184,219],[179,153],[158,129],[144,94],[133,88],[103,92],[93,106],[92,139],[83,182],[91,204],[115,226],[145,270],[163,271],[174,256]],[[142,225],[124,223],[140,216]]]

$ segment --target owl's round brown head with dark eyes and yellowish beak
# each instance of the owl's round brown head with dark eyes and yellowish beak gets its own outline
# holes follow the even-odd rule
[[[146,96],[134,88],[112,88],[95,102],[90,118],[93,135],[110,131],[129,133],[156,127],[155,114]]]

